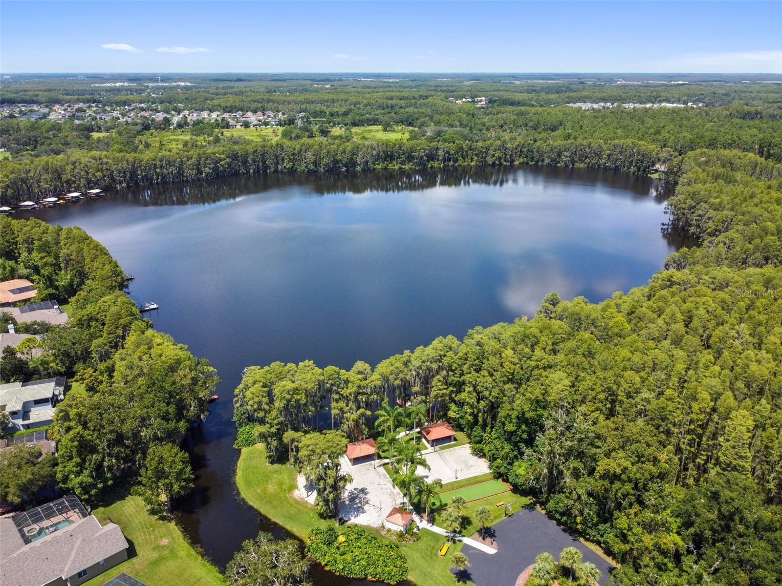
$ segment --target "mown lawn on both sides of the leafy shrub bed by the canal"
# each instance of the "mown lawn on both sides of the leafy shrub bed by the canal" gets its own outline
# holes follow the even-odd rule
[[[262,445],[242,450],[236,484],[250,505],[302,539],[307,538],[310,528],[334,523],[321,519],[313,506],[292,495],[296,489],[296,470],[285,464],[267,463]],[[386,539],[377,529],[371,531]],[[421,538],[415,543],[400,543],[407,556],[411,581],[421,586],[453,586],[456,578],[450,573],[450,556],[461,549],[461,543],[451,545],[448,555],[441,558],[437,552],[446,538],[424,529],[419,535]]]

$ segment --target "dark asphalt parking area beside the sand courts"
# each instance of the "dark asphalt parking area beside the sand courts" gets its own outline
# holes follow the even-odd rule
[[[497,553],[490,555],[470,545],[461,550],[470,560],[465,577],[476,586],[514,586],[518,574],[534,563],[535,556],[549,552],[554,559],[559,559],[559,552],[566,547],[578,548],[585,562],[597,566],[601,572],[600,584],[609,581],[608,572],[613,569],[610,563],[536,509],[522,509],[492,529]]]

